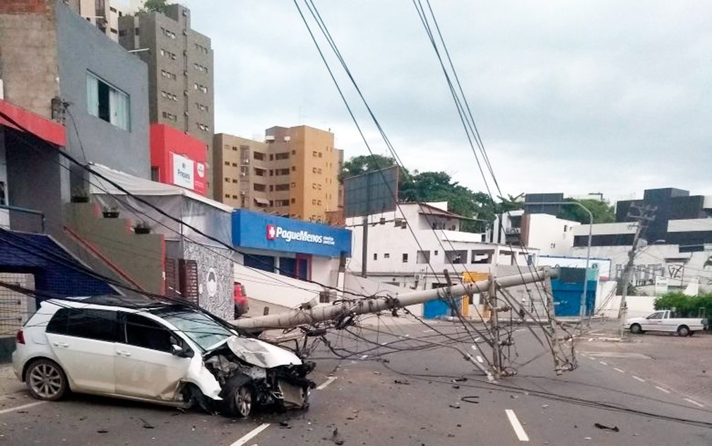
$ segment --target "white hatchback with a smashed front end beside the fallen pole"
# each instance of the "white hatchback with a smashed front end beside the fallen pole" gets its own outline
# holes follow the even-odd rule
[[[307,408],[314,387],[314,364],[292,351],[197,308],[117,296],[43,301],[12,359],[39,400],[74,391],[246,417],[254,405]]]

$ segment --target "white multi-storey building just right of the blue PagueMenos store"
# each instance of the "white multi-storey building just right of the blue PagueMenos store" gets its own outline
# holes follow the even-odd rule
[[[367,277],[408,289],[431,289],[444,283],[447,269],[458,282],[464,272],[528,271],[538,251],[485,241],[485,234],[461,232],[464,217],[448,212],[446,202],[399,204],[393,212],[367,217]],[[350,217],[352,257],[346,269],[362,272],[363,219]],[[502,270],[503,271],[503,270]]]

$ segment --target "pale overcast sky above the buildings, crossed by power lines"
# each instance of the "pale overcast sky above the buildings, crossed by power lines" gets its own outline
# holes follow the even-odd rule
[[[314,2],[405,167],[484,191],[412,1]],[[304,124],[333,131],[346,158],[367,154],[293,1],[183,3],[212,39],[216,133],[261,140]],[[431,5],[503,193],[712,195],[712,2]],[[372,150],[387,155],[328,54]]]

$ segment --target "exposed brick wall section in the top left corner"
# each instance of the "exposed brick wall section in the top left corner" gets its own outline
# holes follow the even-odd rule
[[[0,1],[5,99],[45,118],[51,118],[51,99],[59,95],[54,5],[54,0]]]

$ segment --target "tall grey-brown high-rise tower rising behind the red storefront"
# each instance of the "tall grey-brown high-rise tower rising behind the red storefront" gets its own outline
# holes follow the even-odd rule
[[[172,4],[165,14],[147,11],[121,16],[119,43],[148,64],[151,123],[170,125],[204,143],[206,195],[212,197],[214,93],[210,38],[191,28],[189,9]]]

